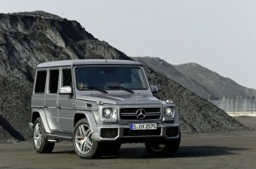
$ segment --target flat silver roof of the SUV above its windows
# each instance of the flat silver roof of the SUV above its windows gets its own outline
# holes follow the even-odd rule
[[[121,59],[70,59],[70,60],[60,60],[45,62],[39,64],[37,68],[46,67],[60,67],[68,65],[142,65],[136,61],[131,60],[121,60]]]

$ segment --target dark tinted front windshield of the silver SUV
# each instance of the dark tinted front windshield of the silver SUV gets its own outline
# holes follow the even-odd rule
[[[98,90],[131,90],[148,89],[143,69],[137,66],[91,66],[76,67],[76,85],[81,91]]]

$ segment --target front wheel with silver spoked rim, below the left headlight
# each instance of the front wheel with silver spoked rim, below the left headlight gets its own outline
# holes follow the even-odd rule
[[[73,147],[77,155],[83,159],[95,158],[99,155],[99,144],[94,140],[89,122],[81,119],[73,130]]]

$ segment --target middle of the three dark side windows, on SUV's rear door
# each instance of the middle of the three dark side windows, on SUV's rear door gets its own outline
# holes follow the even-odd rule
[[[57,93],[59,84],[59,70],[49,70],[49,93]]]

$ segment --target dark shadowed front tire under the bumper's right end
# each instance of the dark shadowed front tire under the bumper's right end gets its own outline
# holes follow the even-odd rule
[[[181,140],[181,134],[179,132],[179,138],[167,140],[163,142],[148,142],[145,143],[148,152],[151,155],[165,157],[174,155],[177,152]]]

